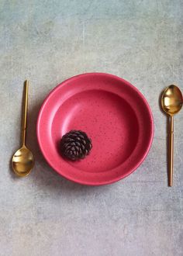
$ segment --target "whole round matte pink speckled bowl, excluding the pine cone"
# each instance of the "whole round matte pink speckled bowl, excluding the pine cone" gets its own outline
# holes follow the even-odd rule
[[[81,161],[60,155],[60,139],[70,130],[91,138]],[[105,185],[125,178],[146,157],[154,135],[150,107],[128,81],[112,74],[79,74],[62,82],[43,102],[37,138],[47,162],[73,182]]]

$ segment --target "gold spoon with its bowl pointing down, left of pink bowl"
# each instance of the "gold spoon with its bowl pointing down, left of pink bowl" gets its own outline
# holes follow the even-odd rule
[[[33,169],[34,157],[33,153],[26,147],[26,116],[28,103],[28,87],[29,82],[26,80],[23,92],[23,106],[22,106],[22,147],[16,151],[12,157],[12,169],[16,175],[21,177],[29,175]]]

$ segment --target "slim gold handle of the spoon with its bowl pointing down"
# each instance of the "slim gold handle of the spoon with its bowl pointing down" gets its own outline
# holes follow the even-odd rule
[[[23,90],[23,102],[22,102],[22,146],[26,144],[26,116],[27,116],[27,104],[28,104],[28,88],[29,81],[25,81]]]

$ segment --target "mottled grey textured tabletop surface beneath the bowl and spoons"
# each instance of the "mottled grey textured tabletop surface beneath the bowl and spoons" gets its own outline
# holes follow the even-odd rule
[[[181,0],[0,0],[0,255],[182,255],[183,111],[175,117],[174,186],[167,188],[161,90],[183,90]],[[57,175],[36,143],[36,116],[55,85],[89,71],[119,75],[146,96],[154,143],[123,181],[85,187]],[[16,178],[22,83],[29,78],[27,144],[36,166]]]

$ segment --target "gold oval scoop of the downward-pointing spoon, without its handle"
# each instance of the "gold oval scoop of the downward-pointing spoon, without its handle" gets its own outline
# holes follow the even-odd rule
[[[28,175],[33,169],[33,165],[33,153],[26,146],[19,148],[12,157],[13,171],[21,177]]]

